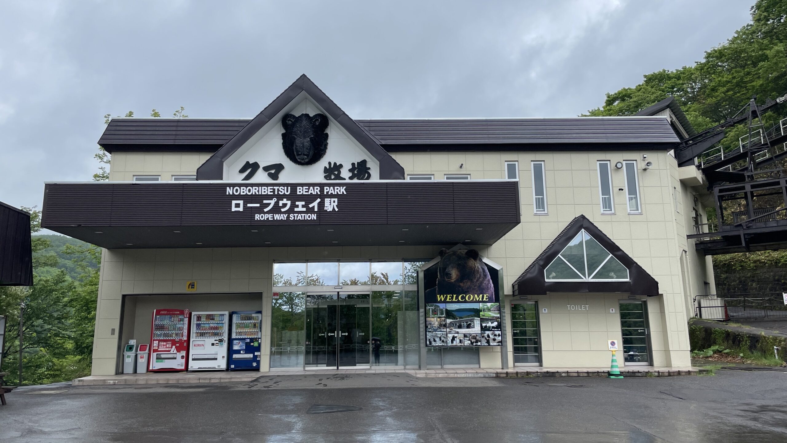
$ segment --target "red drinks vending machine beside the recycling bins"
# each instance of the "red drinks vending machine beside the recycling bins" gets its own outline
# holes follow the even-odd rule
[[[150,371],[186,370],[189,310],[155,309],[150,329]]]

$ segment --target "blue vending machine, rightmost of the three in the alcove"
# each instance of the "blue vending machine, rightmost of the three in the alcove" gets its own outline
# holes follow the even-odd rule
[[[230,370],[260,369],[262,311],[234,311],[230,339]]]

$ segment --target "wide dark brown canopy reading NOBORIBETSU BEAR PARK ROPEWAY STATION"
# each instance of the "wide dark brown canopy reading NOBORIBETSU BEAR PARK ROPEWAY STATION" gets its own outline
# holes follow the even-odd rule
[[[103,248],[493,244],[519,224],[518,185],[53,183],[42,227]]]

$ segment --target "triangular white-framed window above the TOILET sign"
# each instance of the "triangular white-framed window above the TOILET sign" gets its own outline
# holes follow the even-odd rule
[[[582,229],[544,270],[548,281],[629,281],[629,270]]]

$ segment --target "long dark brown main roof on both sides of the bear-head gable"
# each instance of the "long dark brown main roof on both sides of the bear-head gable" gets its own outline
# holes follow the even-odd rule
[[[251,119],[113,118],[98,144],[113,151],[216,152]],[[672,149],[678,137],[663,117],[356,120],[392,151]]]

